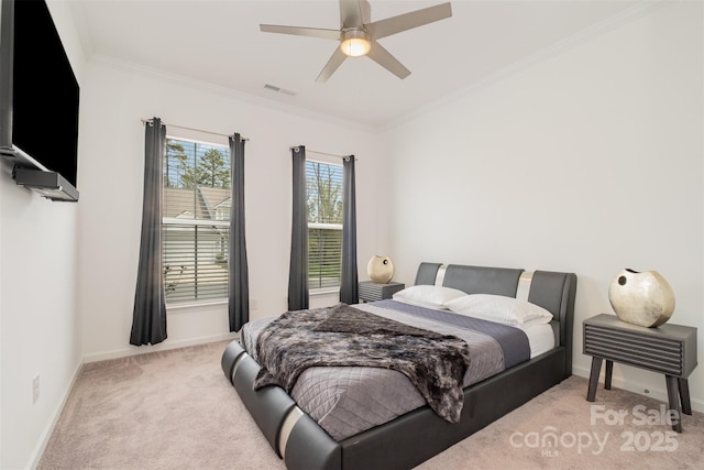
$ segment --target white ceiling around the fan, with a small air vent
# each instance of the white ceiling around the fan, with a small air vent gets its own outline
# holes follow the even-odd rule
[[[442,0],[370,2],[376,21]],[[78,0],[70,9],[89,58],[155,69],[380,129],[588,37],[644,4],[451,3],[452,18],[380,40],[411,70],[407,78],[397,78],[369,57],[350,57],[323,84],[315,80],[337,42],[262,33],[258,25],[338,29],[337,0]],[[265,88],[267,84],[283,91]]]

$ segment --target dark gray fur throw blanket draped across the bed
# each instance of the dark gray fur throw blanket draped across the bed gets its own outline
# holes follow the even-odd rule
[[[256,340],[262,365],[254,390],[278,385],[290,393],[314,367],[371,367],[402,372],[443,419],[458,423],[470,364],[469,348],[454,336],[415,328],[345,304],[286,311]]]

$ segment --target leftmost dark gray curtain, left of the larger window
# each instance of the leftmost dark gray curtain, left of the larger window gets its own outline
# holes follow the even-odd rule
[[[134,293],[130,345],[156,345],[166,339],[166,303],[162,267],[162,166],[166,128],[161,119],[146,122],[144,135],[144,200],[142,241]]]

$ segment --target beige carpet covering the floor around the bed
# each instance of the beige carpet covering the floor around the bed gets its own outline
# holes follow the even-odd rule
[[[284,469],[220,369],[226,346],[86,364],[38,469]],[[585,393],[572,376],[419,469],[703,468],[704,415],[675,435],[648,423],[660,402]]]

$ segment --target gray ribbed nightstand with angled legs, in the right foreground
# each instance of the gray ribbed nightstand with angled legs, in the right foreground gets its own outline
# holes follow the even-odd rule
[[[659,372],[666,378],[670,409],[678,413],[672,429],[682,433],[682,413],[692,414],[688,376],[696,368],[696,328],[669,324],[646,328],[605,314],[584,320],[583,326],[583,352],[592,356],[587,402],[595,398],[602,360],[606,360],[606,390],[612,387],[614,361]]]

